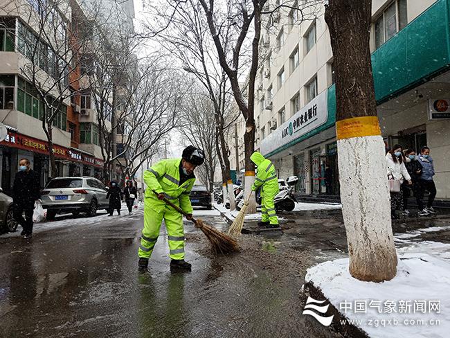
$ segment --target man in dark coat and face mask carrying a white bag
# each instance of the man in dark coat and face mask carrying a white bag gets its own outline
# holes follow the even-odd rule
[[[39,176],[30,168],[28,159],[19,161],[17,172],[12,186],[14,218],[24,229],[21,235],[30,239],[33,233],[33,209],[35,201],[40,197]],[[25,219],[23,213],[25,212]]]

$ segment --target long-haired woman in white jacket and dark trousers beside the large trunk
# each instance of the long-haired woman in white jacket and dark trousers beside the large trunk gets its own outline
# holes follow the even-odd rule
[[[388,165],[388,179],[398,179],[400,184],[403,184],[404,181],[406,181],[408,185],[413,184],[411,176],[404,164],[402,145],[396,144],[389,150],[388,154],[386,154],[386,164]],[[398,218],[395,211],[403,211],[402,204],[402,189],[400,189],[399,193],[390,193],[390,215],[393,219]]]

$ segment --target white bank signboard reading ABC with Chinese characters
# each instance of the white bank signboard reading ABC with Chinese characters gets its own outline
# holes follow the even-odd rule
[[[327,118],[327,91],[325,90],[262,140],[260,145],[261,153],[264,155],[269,154],[283,145],[298,139],[300,136],[326,123]]]

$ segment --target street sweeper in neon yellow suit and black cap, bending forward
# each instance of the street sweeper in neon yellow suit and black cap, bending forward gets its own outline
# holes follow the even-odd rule
[[[163,159],[144,173],[147,184],[144,202],[144,228],[138,249],[139,272],[146,272],[148,260],[159,237],[161,222],[165,222],[168,234],[170,267],[189,270],[184,260],[183,216],[165,204],[163,198],[185,211],[192,220],[190,190],[195,183],[194,170],[204,162],[204,152],[192,145],[183,150],[181,159]]]

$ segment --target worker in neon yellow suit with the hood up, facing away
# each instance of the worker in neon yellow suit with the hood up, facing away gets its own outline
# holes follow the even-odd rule
[[[251,190],[256,191],[261,187],[261,222],[260,226],[267,228],[278,228],[278,217],[275,211],[275,202],[273,199],[280,192],[278,186],[278,177],[276,175],[275,166],[269,159],[265,159],[260,152],[253,152],[250,157],[251,161],[258,166],[256,172],[255,183],[251,186]]]

